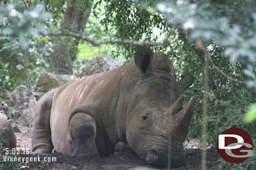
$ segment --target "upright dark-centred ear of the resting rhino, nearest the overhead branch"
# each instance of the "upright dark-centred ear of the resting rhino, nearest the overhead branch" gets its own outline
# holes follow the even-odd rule
[[[152,58],[153,52],[149,47],[137,46],[137,52],[135,54],[134,61],[142,74],[146,74],[151,70]]]

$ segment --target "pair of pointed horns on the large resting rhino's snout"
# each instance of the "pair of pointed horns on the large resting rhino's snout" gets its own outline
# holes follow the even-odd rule
[[[183,99],[184,97],[182,95],[177,101],[175,101],[175,103],[177,102],[177,104],[180,104],[181,100]],[[192,96],[187,106],[178,112],[176,112],[176,108],[179,107],[173,106],[174,109],[171,115],[171,119],[169,119],[170,122],[168,122],[168,124],[171,124],[172,135],[174,135],[175,137],[179,137],[180,142],[184,142],[185,138],[188,135],[188,127],[191,123],[191,119],[193,116],[195,101],[195,96]]]

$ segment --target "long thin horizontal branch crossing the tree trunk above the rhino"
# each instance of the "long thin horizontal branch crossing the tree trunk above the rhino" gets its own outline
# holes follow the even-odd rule
[[[102,44],[114,44],[114,43],[122,43],[122,44],[130,44],[135,46],[165,46],[165,43],[160,42],[151,42],[151,41],[136,41],[136,40],[130,40],[130,39],[112,39],[112,40],[102,40],[102,41],[96,41],[94,38],[90,38],[87,36],[83,36],[79,33],[73,33],[70,31],[55,31],[55,32],[47,32],[43,33],[42,31],[38,31],[39,35],[42,36],[71,36],[74,38],[81,38],[81,40],[87,41],[91,43],[94,46],[100,46]]]

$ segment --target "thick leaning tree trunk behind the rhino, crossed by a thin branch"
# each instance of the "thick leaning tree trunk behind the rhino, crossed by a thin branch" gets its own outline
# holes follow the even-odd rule
[[[61,30],[83,34],[91,12],[91,0],[68,0]],[[79,38],[57,37],[51,56],[49,71],[58,74],[73,74],[72,61],[76,58]]]

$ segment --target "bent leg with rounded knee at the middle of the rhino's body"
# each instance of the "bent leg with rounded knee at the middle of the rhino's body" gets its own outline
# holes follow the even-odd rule
[[[86,113],[76,113],[68,125],[76,156],[99,158],[95,137],[97,124],[95,119]]]

